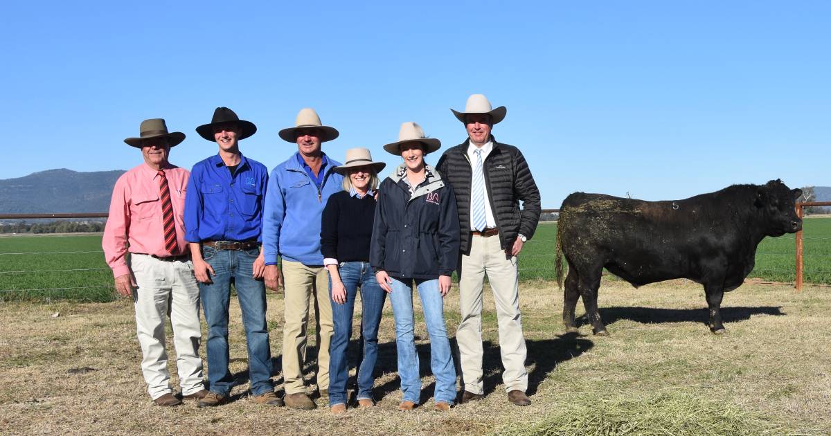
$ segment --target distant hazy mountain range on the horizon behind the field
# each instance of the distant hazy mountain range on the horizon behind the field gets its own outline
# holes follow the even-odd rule
[[[0,213],[95,213],[110,209],[112,187],[125,171],[79,173],[47,169],[0,179]],[[816,201],[831,201],[831,186],[814,187]]]

